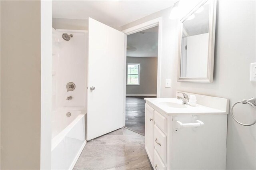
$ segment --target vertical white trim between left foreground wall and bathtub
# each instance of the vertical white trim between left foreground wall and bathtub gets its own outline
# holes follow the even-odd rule
[[[41,1],[40,169],[51,169],[52,148],[52,1]]]

